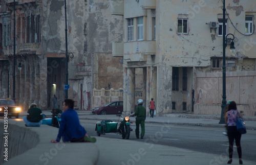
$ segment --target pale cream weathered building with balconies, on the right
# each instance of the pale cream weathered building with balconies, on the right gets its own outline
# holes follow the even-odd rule
[[[113,42],[113,56],[123,58],[124,111],[133,111],[135,69],[143,70],[144,106],[156,101],[159,115],[194,111],[220,114],[223,37],[227,38],[227,100],[246,115],[256,115],[254,22],[256,4],[226,1],[112,0],[112,14],[123,16],[123,40]]]

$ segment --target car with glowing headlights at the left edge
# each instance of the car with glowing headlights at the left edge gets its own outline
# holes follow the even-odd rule
[[[11,99],[0,99],[0,116],[5,116],[5,112],[8,113],[8,117],[18,118],[19,113],[22,109],[15,105],[14,100]]]

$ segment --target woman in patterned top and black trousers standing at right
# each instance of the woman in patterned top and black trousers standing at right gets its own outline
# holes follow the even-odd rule
[[[242,161],[242,149],[241,149],[241,136],[242,134],[237,130],[237,117],[241,117],[240,112],[237,110],[236,102],[232,101],[227,107],[227,111],[225,112],[225,122],[227,124],[227,136],[229,142],[229,160],[228,164],[232,162],[232,155],[233,155],[233,145],[234,140],[236,140],[238,156],[239,156],[239,164],[243,164]]]

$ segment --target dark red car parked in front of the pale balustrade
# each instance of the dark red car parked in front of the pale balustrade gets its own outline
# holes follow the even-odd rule
[[[123,102],[115,101],[105,104],[101,107],[95,107],[92,110],[93,114],[118,114],[118,111],[123,112]]]

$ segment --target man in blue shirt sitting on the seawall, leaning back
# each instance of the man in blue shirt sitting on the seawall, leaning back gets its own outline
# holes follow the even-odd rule
[[[62,137],[63,142],[96,142],[95,137],[89,137],[86,130],[80,125],[77,112],[74,110],[74,101],[66,99],[62,105],[61,123],[56,140],[52,143],[58,143]]]

